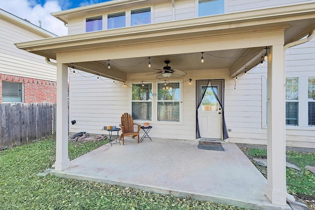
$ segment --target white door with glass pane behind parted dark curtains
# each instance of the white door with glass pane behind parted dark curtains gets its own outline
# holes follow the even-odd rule
[[[212,80],[208,85],[208,80],[197,81],[197,99],[204,97],[198,108],[199,132],[201,138],[221,139],[222,138],[222,108],[217,97],[222,101],[223,80]],[[208,86],[207,86],[208,85]],[[215,96],[216,93],[217,97]]]

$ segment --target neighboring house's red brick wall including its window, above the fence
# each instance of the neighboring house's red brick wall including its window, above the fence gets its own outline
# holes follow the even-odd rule
[[[0,103],[57,102],[57,82],[0,74]]]

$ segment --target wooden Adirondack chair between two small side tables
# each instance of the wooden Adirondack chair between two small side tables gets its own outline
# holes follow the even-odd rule
[[[134,125],[138,126],[138,130],[134,130]],[[122,135],[120,136],[120,140],[123,138],[123,145],[125,145],[124,137],[132,136],[132,138],[138,136],[138,144],[139,144],[139,131],[141,125],[133,123],[133,118],[128,113],[124,113],[122,115],[122,123],[119,125],[122,128]]]

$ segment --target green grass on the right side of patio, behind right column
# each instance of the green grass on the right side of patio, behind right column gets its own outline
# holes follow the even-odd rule
[[[242,149],[250,158],[266,158],[267,150],[264,149]],[[297,165],[301,171],[292,168],[286,168],[286,186],[287,192],[301,200],[315,200],[315,174],[305,169],[306,165],[315,166],[315,152],[286,151],[287,162]],[[253,161],[252,161],[253,162]],[[267,177],[267,169],[253,164],[260,172]],[[312,206],[315,209],[315,206]]]

